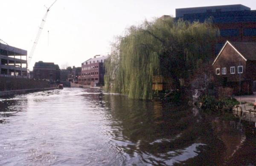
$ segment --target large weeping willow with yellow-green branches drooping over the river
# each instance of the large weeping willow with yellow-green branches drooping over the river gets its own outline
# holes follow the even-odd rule
[[[178,87],[179,79],[211,60],[218,33],[209,20],[189,23],[172,17],[131,26],[112,45],[105,63],[106,90],[151,99],[157,75],[171,77]]]

